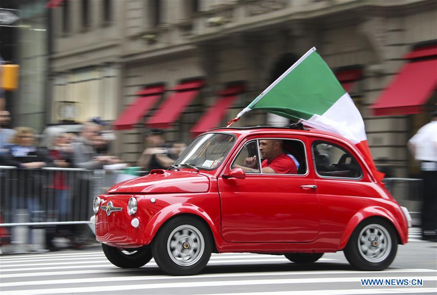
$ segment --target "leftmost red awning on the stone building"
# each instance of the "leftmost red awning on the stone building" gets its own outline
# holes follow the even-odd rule
[[[138,91],[137,95],[140,97],[124,109],[113,123],[114,129],[127,130],[134,128],[134,125],[138,124],[142,117],[157,103],[163,92],[164,86],[147,87]]]

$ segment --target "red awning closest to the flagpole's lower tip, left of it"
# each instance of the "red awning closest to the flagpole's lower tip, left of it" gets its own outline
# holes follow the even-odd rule
[[[227,109],[234,103],[236,98],[244,90],[243,85],[230,86],[218,93],[221,97],[216,104],[203,115],[203,117],[191,128],[193,136],[197,136],[207,130],[216,127],[225,116]]]

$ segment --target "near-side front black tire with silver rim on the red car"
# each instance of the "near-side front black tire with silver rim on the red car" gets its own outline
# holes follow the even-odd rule
[[[210,260],[211,250],[210,228],[190,216],[175,217],[164,224],[152,242],[157,265],[173,276],[190,276],[202,271]]]

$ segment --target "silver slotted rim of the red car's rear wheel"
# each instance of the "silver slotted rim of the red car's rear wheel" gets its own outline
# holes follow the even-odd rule
[[[378,263],[390,254],[391,243],[390,234],[384,226],[371,224],[361,230],[358,249],[365,260]]]

